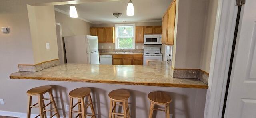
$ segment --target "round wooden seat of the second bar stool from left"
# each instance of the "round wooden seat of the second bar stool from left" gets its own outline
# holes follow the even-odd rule
[[[83,98],[89,95],[90,92],[91,92],[91,89],[88,87],[76,88],[69,92],[69,96],[71,98]]]

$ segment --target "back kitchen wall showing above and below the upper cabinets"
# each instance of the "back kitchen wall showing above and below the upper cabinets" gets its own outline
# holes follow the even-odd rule
[[[121,24],[121,23],[117,23]],[[131,23],[128,23],[131,24]],[[92,24],[91,27],[114,27],[115,24]],[[162,26],[162,22],[137,22],[135,26]],[[103,46],[103,48],[102,48]],[[136,43],[136,49],[143,49],[152,45],[144,45],[144,43]],[[153,45],[153,47],[161,47],[161,45]],[[99,43],[99,49],[115,49],[114,43]]]

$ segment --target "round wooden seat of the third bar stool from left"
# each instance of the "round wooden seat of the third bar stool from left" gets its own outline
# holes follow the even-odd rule
[[[123,101],[130,97],[130,92],[124,89],[113,90],[108,94],[109,98],[114,101]]]

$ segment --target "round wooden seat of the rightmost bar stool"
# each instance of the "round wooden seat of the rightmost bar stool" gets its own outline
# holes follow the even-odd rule
[[[162,91],[154,91],[148,94],[148,99],[156,104],[168,104],[172,102],[172,98]]]

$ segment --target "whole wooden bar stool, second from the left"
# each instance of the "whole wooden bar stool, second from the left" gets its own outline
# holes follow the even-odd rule
[[[78,115],[75,117],[77,118],[86,118],[87,116],[91,116],[90,118],[96,118],[93,104],[92,104],[92,98],[91,98],[91,89],[88,87],[82,87],[82,88],[76,88],[69,92],[70,96],[70,108],[69,108],[69,118],[72,118],[73,113],[78,113]],[[84,98],[88,96],[89,103],[85,103]],[[78,102],[73,106],[73,99],[77,98]],[[73,108],[78,105],[78,111],[73,111]],[[91,107],[92,114],[86,114],[86,109],[88,107]]]

